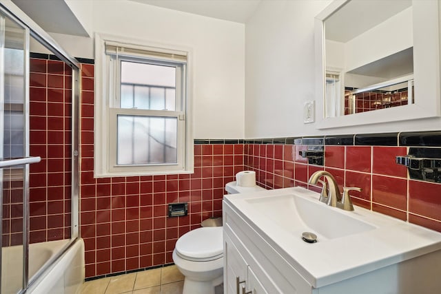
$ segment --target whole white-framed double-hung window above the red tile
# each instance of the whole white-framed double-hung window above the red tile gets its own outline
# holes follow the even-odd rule
[[[95,174],[192,172],[189,52],[135,43],[96,36]]]

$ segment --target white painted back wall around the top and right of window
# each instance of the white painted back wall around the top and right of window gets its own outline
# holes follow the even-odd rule
[[[89,2],[93,32],[191,48],[194,138],[244,138],[244,24],[134,1]],[[51,35],[73,56],[94,58],[92,39]]]

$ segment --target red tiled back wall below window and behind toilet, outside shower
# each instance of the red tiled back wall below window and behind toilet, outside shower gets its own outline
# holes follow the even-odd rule
[[[243,170],[243,144],[194,146],[194,174],[94,178],[93,65],[81,67],[81,237],[86,277],[173,262],[176,240],[222,216],[227,182]],[[188,202],[168,218],[167,203]]]

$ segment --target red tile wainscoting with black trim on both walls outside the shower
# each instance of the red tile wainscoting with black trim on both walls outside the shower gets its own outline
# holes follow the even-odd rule
[[[407,153],[398,134],[195,140],[194,174],[94,178],[94,65],[81,70],[80,231],[89,279],[172,263],[176,240],[222,215],[225,184],[244,169],[257,171],[267,189],[308,187],[308,177],[326,169],[340,186],[363,188],[353,193],[355,204],[441,231],[441,186],[407,179],[395,164]],[[324,146],[324,166],[298,155],[309,145]],[[167,203],[178,201],[188,202],[188,216],[168,218]]]

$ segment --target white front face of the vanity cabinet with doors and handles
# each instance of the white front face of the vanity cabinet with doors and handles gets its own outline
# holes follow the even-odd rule
[[[311,286],[229,204],[224,202],[223,211],[225,294],[244,294],[243,286],[253,294],[311,293]]]

